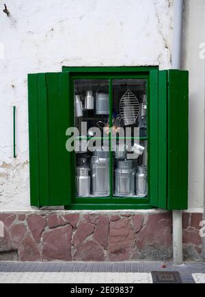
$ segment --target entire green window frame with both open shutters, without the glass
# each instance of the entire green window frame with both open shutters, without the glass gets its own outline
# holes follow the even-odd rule
[[[77,197],[74,152],[68,153],[65,147],[66,129],[74,126],[74,80],[109,79],[111,114],[112,80],[129,78],[148,81],[148,197],[117,198],[112,191],[109,197]],[[64,205],[66,209],[187,209],[187,71],[159,71],[156,66],[64,66],[62,73],[29,75],[28,90],[31,205]]]

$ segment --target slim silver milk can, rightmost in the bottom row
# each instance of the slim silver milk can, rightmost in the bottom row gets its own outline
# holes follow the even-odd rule
[[[148,195],[147,166],[138,166],[136,173],[136,195],[146,197]]]

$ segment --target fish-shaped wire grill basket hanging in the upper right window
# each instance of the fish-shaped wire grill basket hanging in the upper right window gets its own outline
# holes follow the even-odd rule
[[[127,90],[126,93],[120,99],[120,115],[124,120],[124,125],[134,125],[139,114],[139,101],[135,94],[130,90]]]

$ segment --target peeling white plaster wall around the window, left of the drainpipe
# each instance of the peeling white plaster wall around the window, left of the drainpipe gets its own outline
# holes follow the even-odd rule
[[[61,71],[63,65],[170,68],[173,0],[5,0],[5,3],[10,17],[0,5],[0,211],[28,210],[27,73]],[[191,58],[190,53],[188,57]],[[197,99],[198,91],[193,86]],[[200,130],[203,142],[204,104],[202,112],[199,105],[202,97],[199,100],[197,107],[191,109],[191,118],[197,111],[200,118],[190,136],[195,140],[193,135],[199,135]],[[16,105],[16,159],[12,156],[12,105]],[[190,162],[194,172],[203,148],[204,145],[197,146],[195,151],[191,148],[191,153],[199,153],[197,163]],[[191,207],[202,207],[203,168],[200,166],[197,172],[199,188],[191,190]]]

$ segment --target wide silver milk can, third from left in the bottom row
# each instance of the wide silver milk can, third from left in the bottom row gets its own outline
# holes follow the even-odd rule
[[[115,196],[135,196],[133,160],[118,161],[118,167],[115,169]]]

